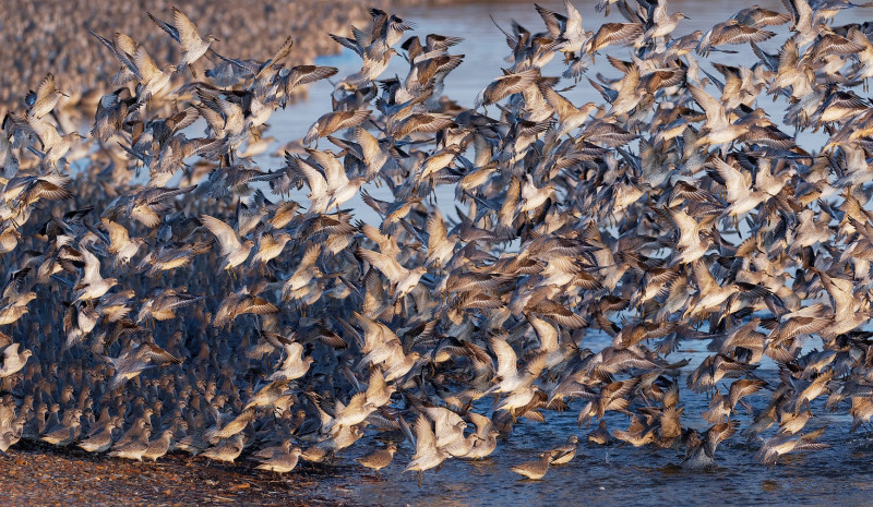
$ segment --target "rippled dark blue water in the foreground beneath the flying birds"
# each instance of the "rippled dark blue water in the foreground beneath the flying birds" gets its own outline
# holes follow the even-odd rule
[[[582,347],[599,350],[611,339],[602,334],[590,335]],[[687,358],[680,383],[685,382],[707,354],[705,343],[698,349],[684,348],[670,354],[671,362]],[[775,365],[765,363],[755,374],[778,382]],[[720,383],[727,393],[728,383]],[[680,407],[684,407],[683,426],[701,432],[706,423],[701,414],[708,409],[706,395],[681,389]],[[762,390],[746,398],[756,409],[763,408],[770,393]],[[761,464],[755,455],[760,442],[748,443],[736,434],[719,445],[718,468],[708,471],[679,467],[683,454],[654,447],[634,448],[627,444],[599,446],[587,442],[596,427],[578,427],[576,417],[585,405],[571,402],[563,412],[545,412],[546,423],[519,420],[514,432],[498,440],[494,454],[482,461],[447,460],[439,471],[424,472],[421,486],[412,472],[402,473],[415,449],[402,443],[395,461],[382,470],[382,481],[368,475],[360,483],[350,483],[349,492],[339,498],[357,498],[383,505],[462,506],[462,505],[865,505],[873,490],[873,439],[865,433],[849,434],[851,418],[825,412],[823,399],[812,403],[816,414],[804,433],[822,425],[828,431],[820,439],[832,447],[809,454],[788,455],[774,468]],[[751,418],[741,408],[732,418],[740,430]],[[486,410],[480,413],[489,414]],[[629,419],[615,412],[606,418],[610,431],[626,430]],[[770,436],[774,428],[765,432]],[[540,452],[563,444],[570,435],[579,437],[576,458],[567,464],[552,467],[540,481],[530,481],[510,471],[514,464],[536,460]],[[367,442],[367,440],[364,440]],[[348,454],[355,458],[367,452],[367,444],[357,445]],[[356,452],[357,451],[357,452]],[[369,480],[368,480],[369,479]],[[348,496],[348,495],[351,496]]]

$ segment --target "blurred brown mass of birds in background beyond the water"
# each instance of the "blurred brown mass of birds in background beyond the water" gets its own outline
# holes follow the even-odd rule
[[[434,0],[395,0],[393,4],[419,4]],[[372,3],[384,4],[384,0]],[[94,110],[96,100],[107,89],[103,79],[112,58],[88,39],[87,31],[111,35],[127,34],[150,45],[150,53],[159,59],[179,58],[179,47],[162,37],[145,20],[147,11],[169,11],[172,2],[131,0],[107,3],[103,0],[7,0],[10,15],[0,23],[0,116],[17,109],[17,102],[46,74],[53,73],[70,99],[64,108],[81,106]],[[196,12],[198,22],[213,27],[225,47],[236,48],[240,59],[263,58],[271,43],[288,31],[297,37],[291,55],[296,63],[319,55],[336,52],[336,45],[324,32],[342,29],[348,23],[367,20],[366,4],[357,0],[298,0],[277,3],[271,0],[179,0],[186,12]],[[111,89],[111,88],[110,88]]]

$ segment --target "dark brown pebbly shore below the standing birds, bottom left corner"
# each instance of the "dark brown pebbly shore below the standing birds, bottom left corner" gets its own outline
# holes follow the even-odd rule
[[[347,463],[301,461],[279,475],[246,461],[170,454],[139,462],[21,442],[0,455],[0,506],[370,505],[344,486],[360,480],[367,478]]]

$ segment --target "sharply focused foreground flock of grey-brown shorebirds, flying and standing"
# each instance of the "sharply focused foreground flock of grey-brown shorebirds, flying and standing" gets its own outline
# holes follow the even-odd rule
[[[824,446],[816,412],[866,425],[873,25],[829,23],[848,1],[785,0],[680,37],[663,0],[601,0],[625,20],[589,32],[564,3],[536,5],[542,32],[504,32],[507,65],[473,109],[443,96],[461,38],[371,9],[369,29],[332,36],[360,71],[271,170],[251,158],[271,113],[336,69],[285,67],[290,37],[224,56],[176,9],[152,16],[171,63],[94,33],[118,65],[87,137],[51,75],[2,122],[0,450],[244,452],[288,472],[380,434],[360,464],[379,473],[408,440],[420,481],[554,411],[690,469],[741,428],[775,463]],[[619,76],[586,77],[608,47]],[[756,58],[709,58],[734,50]],[[541,71],[555,56],[563,81]],[[392,58],[405,77],[382,76]],[[573,104],[571,81],[603,100]],[[358,194],[381,222],[344,208]],[[589,350],[589,331],[612,341]],[[701,364],[670,360],[690,343]],[[683,413],[685,389],[705,413]],[[578,443],[512,470],[542,478]]]

